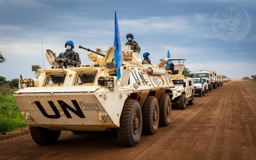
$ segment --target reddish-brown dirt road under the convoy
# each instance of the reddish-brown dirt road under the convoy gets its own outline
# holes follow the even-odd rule
[[[30,134],[0,141],[0,160],[256,160],[256,83],[224,83],[185,110],[172,107],[171,124],[121,147],[116,133],[62,131],[39,146]]]

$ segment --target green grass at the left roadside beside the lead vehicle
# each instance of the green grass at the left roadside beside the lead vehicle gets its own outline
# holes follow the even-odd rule
[[[13,98],[15,91],[0,91],[0,134],[28,127]]]

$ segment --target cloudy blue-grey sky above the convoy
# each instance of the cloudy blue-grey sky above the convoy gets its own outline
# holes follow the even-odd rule
[[[191,72],[215,70],[233,79],[256,75],[255,0],[0,0],[0,76],[35,77],[49,68],[45,50],[65,51],[73,40],[82,63],[87,51],[114,44],[117,11],[121,44],[133,33],[153,64],[186,58]]]

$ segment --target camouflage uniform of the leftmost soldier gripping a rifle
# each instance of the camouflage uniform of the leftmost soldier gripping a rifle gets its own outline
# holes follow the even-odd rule
[[[69,56],[70,58],[70,63],[67,62],[62,62],[61,61],[61,56],[58,56],[55,58],[55,62],[58,62],[60,64],[60,66],[74,66],[74,67],[77,67],[79,65],[81,65],[81,60],[80,60],[80,57],[79,57],[79,54],[77,52],[75,52],[74,50],[66,50],[66,52],[63,53],[64,55],[67,55]]]

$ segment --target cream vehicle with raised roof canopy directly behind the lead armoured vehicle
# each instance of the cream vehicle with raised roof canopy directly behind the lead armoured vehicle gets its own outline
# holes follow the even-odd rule
[[[168,71],[169,76],[172,79],[174,88],[170,90],[170,97],[172,104],[178,105],[180,110],[185,110],[186,101],[189,105],[194,104],[194,88],[195,85],[192,82],[191,78],[185,77],[182,72],[185,68],[183,58],[168,58],[167,60],[178,61],[178,63],[171,63],[170,66],[165,66],[165,69]]]

